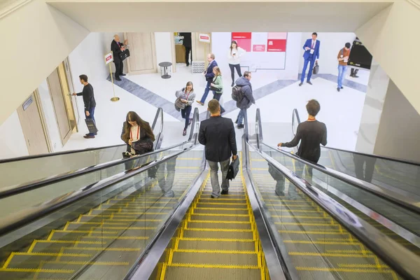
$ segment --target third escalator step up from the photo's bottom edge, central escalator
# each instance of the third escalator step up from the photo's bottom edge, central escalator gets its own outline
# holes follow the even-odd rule
[[[255,244],[253,241],[193,241],[180,239],[178,248],[196,250],[255,251]]]

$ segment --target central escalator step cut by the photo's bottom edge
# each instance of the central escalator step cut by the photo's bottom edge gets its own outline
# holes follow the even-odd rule
[[[258,280],[260,269],[218,268],[218,267],[177,267],[166,268],[165,279],[168,280]]]

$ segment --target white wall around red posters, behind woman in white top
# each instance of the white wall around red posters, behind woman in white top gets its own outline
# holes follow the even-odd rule
[[[302,35],[300,32],[289,32],[287,36],[286,45],[286,66],[284,61],[279,62],[279,68],[284,70],[258,70],[258,72],[276,73],[279,79],[297,79],[298,66],[299,66],[299,52],[298,48]],[[216,56],[216,62],[221,68],[222,73],[230,73],[228,64],[228,50],[231,42],[230,32],[213,32],[211,33],[211,51]],[[266,53],[266,55],[272,55]],[[244,55],[244,57],[246,54]],[[242,69],[244,72],[244,69]],[[229,76],[230,74],[225,76]]]

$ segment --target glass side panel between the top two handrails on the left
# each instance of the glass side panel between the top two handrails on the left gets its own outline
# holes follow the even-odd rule
[[[155,134],[155,150],[159,149],[163,139],[163,111],[156,111],[153,123]],[[117,134],[119,133],[116,132]],[[101,165],[113,160],[120,160],[122,153],[126,151],[126,144],[108,146],[102,148],[88,148],[77,151],[64,151],[43,155],[32,155],[22,158],[10,158],[0,160],[0,189],[18,188],[36,183],[57,174],[69,174],[79,169],[93,165]],[[21,172],[25,170],[25,172]]]

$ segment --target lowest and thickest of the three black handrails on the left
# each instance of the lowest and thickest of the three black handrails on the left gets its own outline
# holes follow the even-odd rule
[[[27,225],[28,223],[31,223],[38,218],[42,218],[43,216],[46,216],[53,211],[56,211],[57,209],[69,206],[73,202],[81,200],[87,195],[91,195],[92,193],[96,193],[99,190],[108,188],[109,186],[115,183],[119,183],[120,181],[125,181],[126,179],[132,176],[136,176],[141,172],[146,172],[148,169],[151,169],[156,165],[160,165],[162,162],[167,162],[168,160],[175,158],[182,153],[192,150],[195,148],[195,146],[196,145],[191,145],[188,148],[184,148],[182,151],[173,153],[171,155],[164,155],[158,160],[153,160],[152,162],[141,165],[139,168],[120,172],[119,174],[110,176],[106,179],[102,179],[97,183],[92,183],[89,186],[80,188],[80,190],[72,191],[70,193],[60,195],[59,197],[55,197],[49,202],[44,202],[42,204],[38,204],[36,207],[31,207],[31,209],[25,210],[26,213],[22,213],[19,217],[6,216],[5,218],[0,218],[0,236],[6,235],[13,230],[17,230],[18,228],[21,228],[22,226]]]

